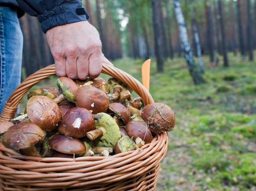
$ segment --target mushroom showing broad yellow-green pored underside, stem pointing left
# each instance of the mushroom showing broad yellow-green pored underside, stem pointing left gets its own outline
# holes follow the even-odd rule
[[[117,140],[121,137],[116,121],[107,113],[94,115],[94,121],[96,129],[86,133],[86,136],[94,140],[97,147],[115,147]]]

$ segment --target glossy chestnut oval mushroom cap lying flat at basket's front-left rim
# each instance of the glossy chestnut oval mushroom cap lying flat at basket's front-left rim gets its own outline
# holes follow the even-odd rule
[[[76,138],[56,134],[49,141],[49,146],[55,151],[65,154],[83,155],[86,152],[84,143]]]

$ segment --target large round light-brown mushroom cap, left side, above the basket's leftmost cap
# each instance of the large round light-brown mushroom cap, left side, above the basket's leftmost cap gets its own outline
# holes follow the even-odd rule
[[[61,121],[58,104],[44,95],[31,97],[26,105],[26,110],[30,120],[46,131],[55,130]]]

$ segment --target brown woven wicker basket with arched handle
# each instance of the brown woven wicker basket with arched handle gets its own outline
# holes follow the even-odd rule
[[[103,64],[102,73],[128,84],[145,105],[154,102],[142,84],[124,71]],[[7,100],[0,121],[12,119],[25,93],[54,74],[55,66],[50,65],[25,79]],[[167,144],[163,133],[142,151],[76,159],[23,156],[0,144],[0,190],[155,190]]]

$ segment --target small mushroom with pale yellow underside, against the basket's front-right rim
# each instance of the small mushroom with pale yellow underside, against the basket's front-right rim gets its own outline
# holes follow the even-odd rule
[[[132,139],[129,138],[129,136],[123,136],[116,143],[115,154],[119,154],[121,152],[127,152],[134,145],[135,145],[135,142],[132,141]]]

